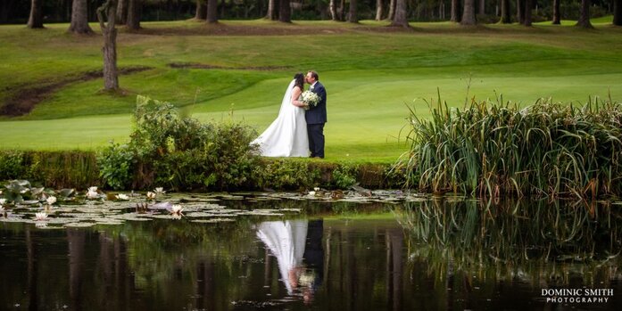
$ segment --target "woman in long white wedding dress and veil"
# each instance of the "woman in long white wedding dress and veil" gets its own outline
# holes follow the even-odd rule
[[[277,119],[270,124],[251,144],[259,144],[264,157],[308,157],[309,137],[307,121],[304,119],[303,94],[304,76],[296,73],[287,86]]]

